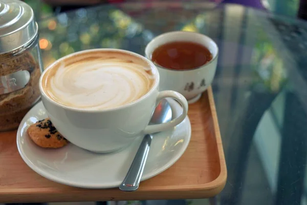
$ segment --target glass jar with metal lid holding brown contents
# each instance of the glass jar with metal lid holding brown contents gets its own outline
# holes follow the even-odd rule
[[[40,97],[37,30],[29,5],[0,0],[0,131],[17,128]]]

